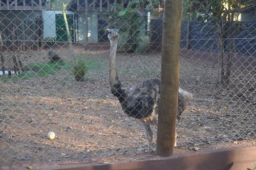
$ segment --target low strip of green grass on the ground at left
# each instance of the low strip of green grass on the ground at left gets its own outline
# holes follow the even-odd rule
[[[79,56],[79,55],[78,55]],[[80,56],[80,58],[82,58]],[[25,72],[22,74],[17,74],[12,76],[8,76],[6,74],[5,76],[0,77],[0,81],[2,82],[9,82],[12,80],[16,80],[18,78],[20,79],[30,79],[34,77],[47,77],[50,75],[55,74],[61,74],[67,76],[67,72],[71,71],[72,77],[75,76],[74,69],[76,69],[78,72],[77,77],[79,79],[78,75],[85,75],[83,78],[90,79],[90,80],[97,80],[95,79],[95,75],[105,73],[108,71],[108,65],[105,62],[102,62],[100,60],[97,60],[97,55],[94,57],[86,57],[83,56],[82,60],[76,60],[75,63],[67,63],[64,61],[58,61],[58,62],[37,62],[37,63],[30,63],[27,66],[24,67]],[[84,66],[85,69],[81,69]],[[80,68],[80,69],[78,69]],[[86,74],[88,73],[88,70],[90,69],[90,75]],[[86,72],[84,72],[86,71]],[[70,76],[70,75],[69,75]],[[83,79],[80,79],[83,80]]]

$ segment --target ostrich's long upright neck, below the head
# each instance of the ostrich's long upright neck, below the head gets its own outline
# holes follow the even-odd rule
[[[116,50],[117,50],[117,39],[110,39],[110,70],[109,70],[109,78],[110,78],[110,86],[111,93],[118,97],[118,100],[122,103],[125,99],[125,93],[122,89],[122,84],[118,79],[116,73]]]

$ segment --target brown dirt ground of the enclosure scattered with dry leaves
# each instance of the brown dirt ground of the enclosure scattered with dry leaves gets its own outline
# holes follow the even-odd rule
[[[70,62],[67,47],[57,53]],[[86,81],[77,82],[70,71],[30,79],[0,77],[0,168],[36,164],[106,163],[158,158],[148,153],[145,130],[127,117],[110,93],[108,50],[85,51],[99,63]],[[26,65],[47,62],[46,51],[19,53]],[[217,63],[180,58],[180,87],[193,93],[177,124],[176,154],[202,152],[256,143],[255,68],[233,67],[229,88],[218,84]],[[207,57],[207,53],[193,55]],[[5,53],[11,66],[11,54]],[[210,56],[209,56],[210,57]],[[117,72],[124,87],[160,76],[161,53],[117,55]],[[154,145],[156,144],[155,127]],[[47,139],[55,132],[54,140]],[[154,148],[155,149],[155,148]]]

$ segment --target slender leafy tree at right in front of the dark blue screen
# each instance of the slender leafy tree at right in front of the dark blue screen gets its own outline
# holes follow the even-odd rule
[[[214,33],[221,48],[221,85],[228,86],[231,76],[232,55],[236,53],[234,40],[239,34],[243,22],[239,22],[238,16],[242,7],[248,6],[249,1],[240,0],[212,0],[192,1],[184,0],[184,11],[187,19],[197,20],[214,25],[208,30],[208,34]],[[203,27],[202,27],[203,30]],[[230,37],[233,37],[232,39]],[[228,53],[227,61],[224,61],[224,53]]]

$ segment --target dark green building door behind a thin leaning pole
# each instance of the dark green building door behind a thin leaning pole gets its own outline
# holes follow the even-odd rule
[[[67,15],[67,20],[68,20],[68,25],[69,25],[69,33],[72,39],[72,42],[74,41],[74,20],[73,20],[73,15]],[[55,15],[55,23],[56,23],[56,40],[58,42],[67,42],[68,39],[68,34],[66,31],[66,26],[65,22],[63,19],[62,14],[56,14]]]

